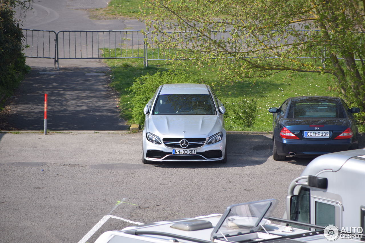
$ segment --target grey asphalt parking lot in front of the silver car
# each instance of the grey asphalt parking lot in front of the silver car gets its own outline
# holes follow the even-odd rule
[[[227,139],[227,164],[144,165],[141,133],[2,133],[0,242],[93,242],[134,225],[125,220],[223,213],[268,198],[282,217],[287,187],[310,159],[273,161],[271,135]]]

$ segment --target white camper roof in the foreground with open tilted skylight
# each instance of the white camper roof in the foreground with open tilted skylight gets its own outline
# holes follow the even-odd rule
[[[358,239],[340,238],[327,227],[299,223],[316,230],[307,231],[285,224],[292,221],[269,217],[275,199],[247,202],[229,206],[221,214],[191,219],[160,221],[132,226],[121,231],[107,231],[95,243],[361,243]],[[298,223],[298,222],[296,222]]]

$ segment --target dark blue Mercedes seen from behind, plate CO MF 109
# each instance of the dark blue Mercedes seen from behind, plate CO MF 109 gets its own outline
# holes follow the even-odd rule
[[[314,157],[358,148],[358,130],[352,113],[341,98],[292,97],[273,113],[273,158]]]

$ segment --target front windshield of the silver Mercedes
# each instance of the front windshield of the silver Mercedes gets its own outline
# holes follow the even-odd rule
[[[215,115],[210,95],[159,95],[153,115]]]

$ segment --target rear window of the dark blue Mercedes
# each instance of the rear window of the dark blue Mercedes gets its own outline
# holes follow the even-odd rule
[[[339,102],[310,101],[291,103],[288,118],[299,117],[337,117],[344,118],[342,106]]]

